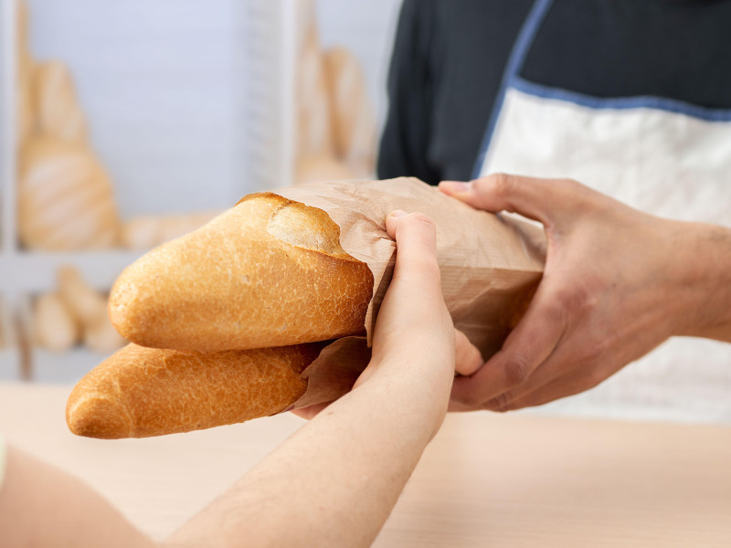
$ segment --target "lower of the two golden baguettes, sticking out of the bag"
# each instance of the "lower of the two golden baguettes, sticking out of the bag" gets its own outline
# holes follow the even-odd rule
[[[322,346],[205,353],[129,344],[74,387],[66,422],[78,436],[114,439],[270,416],[304,393],[302,371]]]

